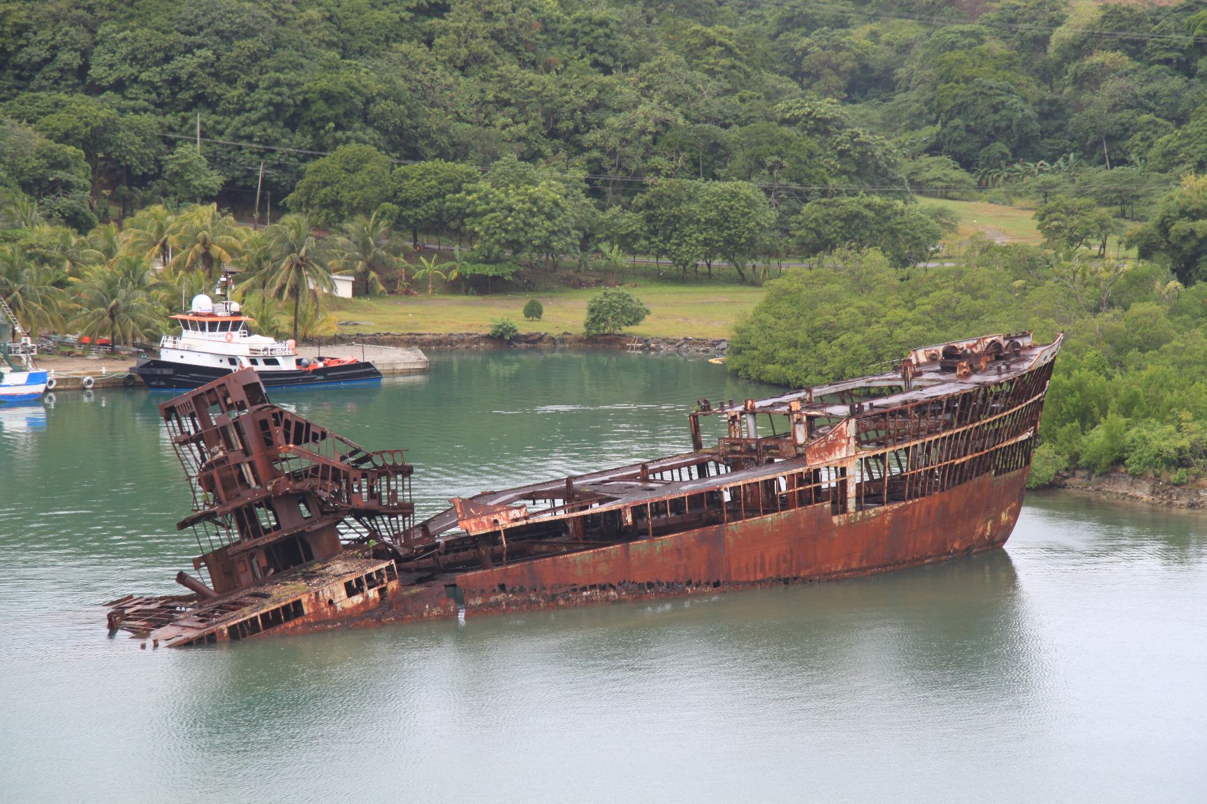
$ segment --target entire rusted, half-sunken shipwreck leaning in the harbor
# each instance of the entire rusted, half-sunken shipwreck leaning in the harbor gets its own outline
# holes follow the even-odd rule
[[[1030,333],[688,417],[693,450],[453,499],[273,405],[237,371],[161,406],[193,489],[188,594],[109,624],[168,646],[391,620],[835,579],[998,547],[1022,505],[1061,346]],[[706,417],[725,435],[705,446]],[[208,577],[209,583],[204,581]]]

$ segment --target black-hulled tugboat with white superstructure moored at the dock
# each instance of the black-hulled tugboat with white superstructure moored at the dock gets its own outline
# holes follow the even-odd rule
[[[218,280],[218,301],[199,294],[186,313],[173,316],[180,335],[164,335],[159,356],[140,358],[134,374],[151,388],[197,388],[239,369],[255,369],[270,388],[314,387],[377,382],[381,372],[372,363],[348,358],[305,358],[292,341],[252,335],[252,319],[238,301],[226,299],[229,274]]]

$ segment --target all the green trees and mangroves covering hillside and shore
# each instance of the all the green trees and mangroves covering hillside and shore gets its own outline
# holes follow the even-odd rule
[[[304,336],[334,325],[332,271],[489,292],[812,259],[736,370],[1067,329],[1044,465],[1186,480],[1207,403],[1149,389],[1190,388],[1207,338],[1203,65],[1205,2],[0,0],[0,294],[129,342],[232,264]],[[935,264],[956,219],[919,195],[1025,204],[1044,245]],[[418,260],[433,237],[461,251]]]

